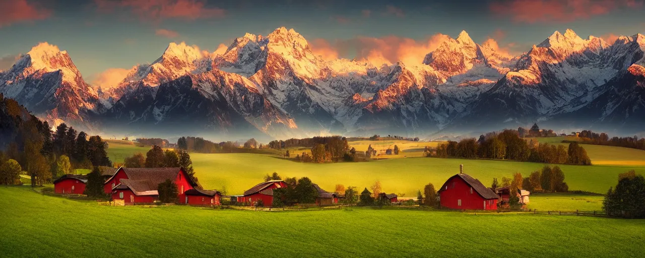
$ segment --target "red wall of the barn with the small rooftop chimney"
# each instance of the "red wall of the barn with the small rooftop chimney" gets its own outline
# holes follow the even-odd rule
[[[441,206],[461,210],[497,210],[497,199],[485,200],[475,189],[471,194],[471,187],[461,177],[453,177],[445,185],[448,190],[446,186],[441,189]],[[461,206],[458,205],[458,200],[461,200]],[[484,200],[486,206],[484,206]]]

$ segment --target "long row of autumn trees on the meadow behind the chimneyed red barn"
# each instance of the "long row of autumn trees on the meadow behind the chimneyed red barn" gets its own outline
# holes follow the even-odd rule
[[[526,141],[517,130],[492,132],[459,142],[448,141],[437,146],[436,152],[426,148],[426,157],[463,158],[463,159],[508,159],[552,164],[591,165],[586,150],[578,143],[562,145]]]

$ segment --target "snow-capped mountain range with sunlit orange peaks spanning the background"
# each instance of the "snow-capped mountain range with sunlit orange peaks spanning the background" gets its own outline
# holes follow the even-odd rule
[[[420,64],[324,61],[293,29],[246,34],[224,54],[170,43],[115,88],[83,80],[41,43],[5,72],[0,93],[57,124],[103,134],[270,138],[469,134],[539,122],[620,134],[645,125],[645,36],[614,43],[555,32],[507,57],[466,32]]]

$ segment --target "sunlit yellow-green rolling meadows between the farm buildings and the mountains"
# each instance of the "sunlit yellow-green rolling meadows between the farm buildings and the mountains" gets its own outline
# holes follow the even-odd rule
[[[562,139],[541,138],[540,140],[555,141]],[[372,146],[390,146],[392,143],[401,147],[402,153],[407,150],[424,148],[421,146],[432,146],[437,142],[411,142],[411,141],[352,141],[350,146],[357,150],[366,150],[369,144]],[[113,149],[113,146],[115,149]],[[584,145],[588,149],[592,163],[602,153],[604,159],[610,159],[620,163],[623,157],[638,156],[637,152],[628,148],[611,146]],[[593,148],[599,147],[599,148]],[[376,148],[376,147],[375,147]],[[381,148],[381,147],[379,147]],[[621,154],[611,154],[611,150],[618,148]],[[134,152],[145,153],[148,148],[137,147],[134,144],[113,144],[110,143],[108,155],[110,159],[117,156],[126,156]],[[294,149],[295,150],[295,149]],[[464,164],[464,171],[467,174],[479,179],[485,185],[490,185],[493,177],[511,177],[515,172],[520,172],[525,177],[546,164],[528,163],[516,161],[492,161],[482,159],[437,159],[424,157],[408,157],[405,159],[384,159],[357,163],[332,163],[332,164],[311,164],[298,163],[292,160],[281,158],[281,153],[275,150],[251,150],[242,154],[199,154],[191,153],[193,166],[200,183],[204,188],[222,190],[226,187],[227,194],[241,194],[244,190],[260,183],[266,174],[277,172],[283,177],[310,177],[314,183],[319,184],[323,189],[333,191],[336,184],[344,186],[357,186],[359,190],[371,186],[374,181],[380,181],[382,190],[388,193],[404,194],[407,197],[415,197],[418,190],[424,185],[433,183],[439,188],[448,177],[459,173],[459,164]],[[274,153],[275,152],[275,153]],[[293,154],[292,152],[292,155]],[[397,156],[397,155],[388,155]],[[398,155],[402,156],[402,155]],[[635,157],[636,158],[636,157]],[[644,157],[640,157],[645,159]],[[118,162],[118,161],[117,161]],[[594,166],[571,166],[559,165],[566,176],[565,182],[570,190],[584,190],[604,194],[618,182],[618,174],[628,170],[636,170],[645,174],[645,166],[629,165],[594,165]]]

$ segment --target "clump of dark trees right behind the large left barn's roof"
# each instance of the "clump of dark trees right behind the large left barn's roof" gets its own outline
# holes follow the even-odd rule
[[[163,150],[160,146],[153,145],[145,156],[137,152],[125,157],[123,166],[126,168],[184,168],[188,177],[199,184],[199,180],[195,177],[193,161],[185,150]]]

